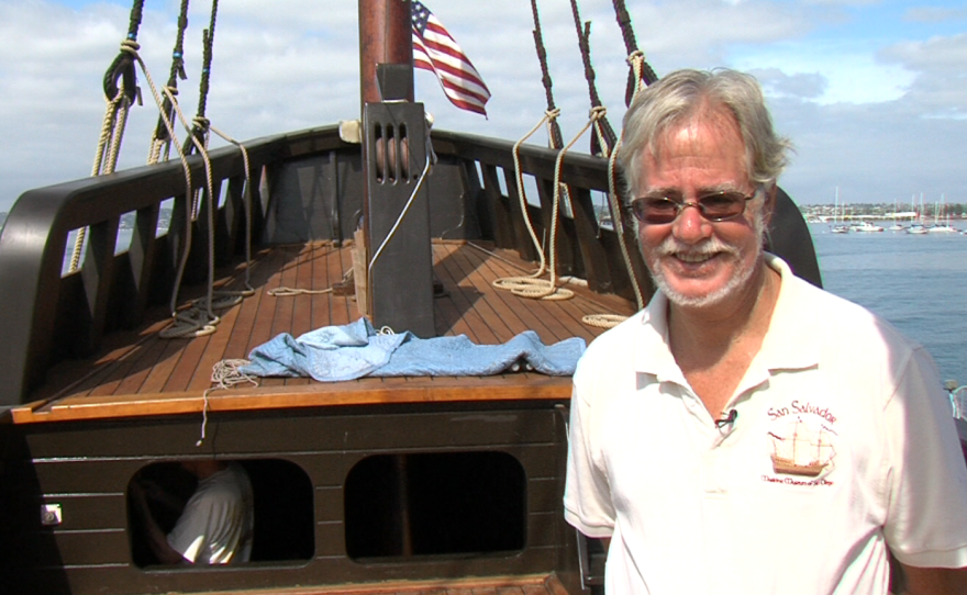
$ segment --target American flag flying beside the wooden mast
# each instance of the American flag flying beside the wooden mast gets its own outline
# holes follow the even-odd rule
[[[480,72],[426,7],[416,0],[410,5],[413,66],[434,72],[451,103],[462,110],[487,115],[484,105],[490,99],[490,90],[484,85]]]

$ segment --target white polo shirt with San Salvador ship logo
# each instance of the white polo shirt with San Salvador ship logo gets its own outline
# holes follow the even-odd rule
[[[715,420],[667,343],[668,302],[575,373],[565,517],[612,537],[614,594],[885,594],[904,564],[967,566],[967,465],[923,347],[796,278]]]

